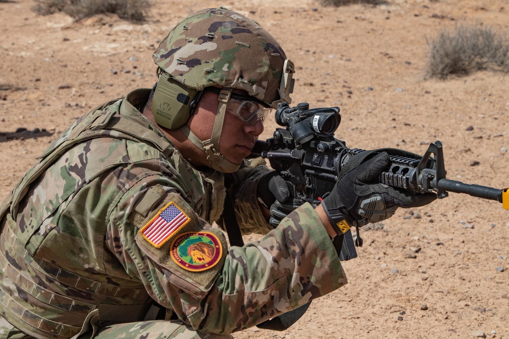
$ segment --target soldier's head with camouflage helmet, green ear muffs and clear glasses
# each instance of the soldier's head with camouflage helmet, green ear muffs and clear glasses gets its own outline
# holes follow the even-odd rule
[[[239,144],[249,147],[262,133],[270,109],[291,102],[294,67],[281,46],[257,22],[227,9],[191,14],[153,57],[159,75],[152,101],[155,121],[180,129],[206,153],[210,167],[222,172],[236,171],[243,160],[231,149],[220,149],[221,136],[235,133],[223,129],[223,121],[227,125],[230,115],[241,121],[249,136],[240,137]],[[208,126],[212,132],[197,131],[203,132],[197,136],[187,122],[205,104],[214,114]]]

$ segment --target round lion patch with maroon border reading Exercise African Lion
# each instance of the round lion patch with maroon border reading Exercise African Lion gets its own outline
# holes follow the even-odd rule
[[[219,262],[222,245],[210,232],[187,232],[172,242],[172,259],[188,271],[204,271]]]

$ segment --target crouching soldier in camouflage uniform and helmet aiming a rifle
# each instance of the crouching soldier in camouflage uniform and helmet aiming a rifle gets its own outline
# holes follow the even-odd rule
[[[219,8],[179,23],[154,61],[153,89],[78,119],[4,201],[2,337],[228,337],[347,283],[331,238],[339,222],[369,222],[358,187],[378,192],[382,219],[432,200],[370,183],[382,152],[274,229],[260,202],[288,192],[245,158],[271,108],[290,102],[285,52]],[[230,199],[242,233],[262,240],[228,248],[210,226]]]

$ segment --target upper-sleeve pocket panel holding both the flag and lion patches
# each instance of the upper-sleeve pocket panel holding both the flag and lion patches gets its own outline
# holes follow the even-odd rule
[[[169,193],[138,223],[137,245],[175,275],[173,284],[195,295],[210,289],[227,254],[220,230],[200,219],[177,193]]]

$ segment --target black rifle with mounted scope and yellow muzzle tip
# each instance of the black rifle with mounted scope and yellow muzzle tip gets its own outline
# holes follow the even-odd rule
[[[348,160],[364,150],[348,148],[344,141],[334,138],[341,122],[339,107],[309,109],[308,103],[296,107],[280,103],[275,121],[284,128],[276,128],[273,137],[266,141],[258,140],[251,156],[269,160],[270,166],[285,179],[294,201],[300,204],[307,201],[316,207],[332,191]],[[440,141],[430,143],[421,159],[409,157],[411,153],[401,149],[383,150],[389,154],[389,165],[378,178],[382,184],[413,193],[435,193],[438,199],[447,197],[448,192],[464,193],[499,201],[503,208],[509,209],[507,189],[446,179]],[[295,204],[291,206],[295,207]],[[280,220],[283,215],[278,217]],[[358,228],[355,245],[350,229],[335,237],[334,244],[341,248],[340,260],[356,258],[355,245],[362,246]]]

